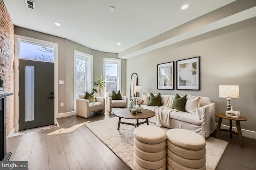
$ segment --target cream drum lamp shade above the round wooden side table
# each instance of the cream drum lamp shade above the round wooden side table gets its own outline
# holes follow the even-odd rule
[[[222,98],[239,98],[239,85],[220,85],[219,90]]]

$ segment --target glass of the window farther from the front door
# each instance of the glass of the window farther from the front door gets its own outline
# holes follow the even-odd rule
[[[106,63],[106,96],[112,91],[117,91],[117,68],[116,63]]]

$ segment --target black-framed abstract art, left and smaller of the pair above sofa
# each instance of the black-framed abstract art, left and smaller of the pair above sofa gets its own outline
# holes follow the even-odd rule
[[[157,89],[174,89],[174,61],[157,65]]]

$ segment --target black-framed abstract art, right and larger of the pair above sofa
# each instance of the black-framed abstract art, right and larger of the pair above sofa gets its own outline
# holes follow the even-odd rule
[[[176,61],[177,90],[200,90],[200,57]]]

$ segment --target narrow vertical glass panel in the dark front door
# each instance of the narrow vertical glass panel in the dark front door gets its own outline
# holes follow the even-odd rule
[[[34,121],[34,66],[25,68],[25,121]]]

